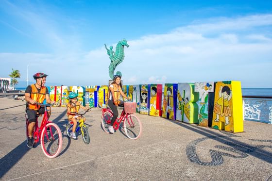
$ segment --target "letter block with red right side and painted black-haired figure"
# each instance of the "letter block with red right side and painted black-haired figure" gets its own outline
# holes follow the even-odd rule
[[[149,115],[160,116],[162,114],[162,84],[150,84],[148,88],[150,92]]]

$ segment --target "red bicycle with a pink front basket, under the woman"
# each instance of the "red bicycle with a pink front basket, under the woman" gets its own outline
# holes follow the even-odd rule
[[[136,112],[136,102],[124,102],[124,109],[119,118],[117,118],[113,124],[114,130],[119,129],[119,125],[123,122],[123,128],[126,136],[129,139],[136,140],[142,134],[142,123],[141,121],[133,115]],[[102,129],[109,133],[109,126],[111,124],[111,118],[113,117],[113,112],[109,108],[102,109],[101,116],[101,126]]]

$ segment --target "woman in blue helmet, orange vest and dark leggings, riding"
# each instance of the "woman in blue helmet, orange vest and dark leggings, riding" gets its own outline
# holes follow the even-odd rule
[[[114,133],[113,123],[115,122],[116,118],[118,117],[117,106],[120,106],[120,107],[124,106],[124,102],[119,100],[120,95],[122,95],[122,97],[125,99],[129,99],[122,91],[121,76],[114,75],[113,82],[109,86],[109,99],[108,99],[108,105],[113,112],[113,117],[111,119],[111,125],[109,126],[109,131],[111,133]]]

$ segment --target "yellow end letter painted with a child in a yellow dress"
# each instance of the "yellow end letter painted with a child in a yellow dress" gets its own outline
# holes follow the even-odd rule
[[[241,82],[216,82],[212,128],[243,132]]]

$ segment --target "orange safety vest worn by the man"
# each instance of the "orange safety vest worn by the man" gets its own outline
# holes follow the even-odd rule
[[[30,98],[35,100],[38,103],[42,103],[45,99],[46,87],[42,86],[40,89],[40,92],[38,91],[35,84],[32,84],[31,88],[32,88],[32,91],[31,91]],[[32,110],[38,110],[40,108],[40,106],[37,104],[28,104],[28,105],[29,105],[29,109],[32,109]]]

